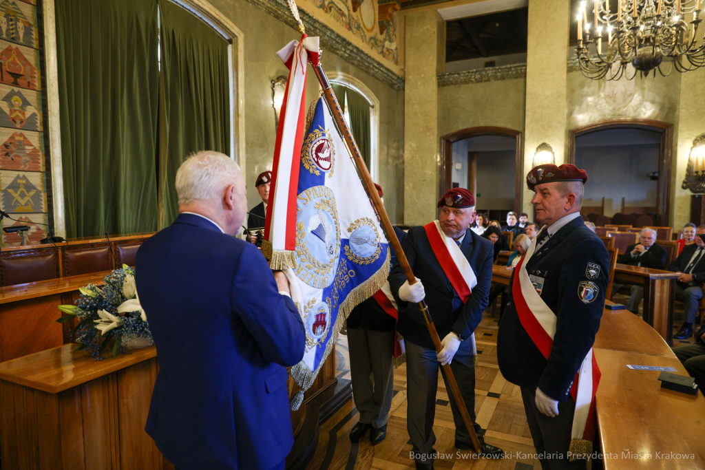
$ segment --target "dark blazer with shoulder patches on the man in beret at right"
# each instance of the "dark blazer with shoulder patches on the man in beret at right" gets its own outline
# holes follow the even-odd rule
[[[515,385],[529,390],[538,386],[553,400],[565,402],[575,373],[600,328],[610,256],[602,240],[578,217],[548,238],[526,268],[529,276],[544,279],[541,299],[558,317],[553,347],[547,361],[522,326],[510,288],[497,334],[499,371]],[[510,285],[516,275],[515,270]],[[597,287],[596,295],[587,303],[580,297],[585,283]]]

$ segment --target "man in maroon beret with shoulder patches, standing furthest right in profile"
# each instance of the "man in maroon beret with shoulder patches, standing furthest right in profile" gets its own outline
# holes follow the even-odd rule
[[[575,165],[529,171],[527,186],[536,193],[532,204],[544,228],[512,273],[499,323],[499,370],[521,389],[543,469],[585,469],[596,426],[599,368],[592,345],[610,257],[580,217],[586,182],[587,173]]]

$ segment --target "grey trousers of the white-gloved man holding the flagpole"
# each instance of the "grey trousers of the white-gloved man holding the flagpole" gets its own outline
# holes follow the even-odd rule
[[[448,390],[450,409],[455,422],[455,440],[472,447],[470,433],[458,410],[453,392],[450,390],[446,373],[441,363],[436,359],[436,350],[406,342],[406,389],[407,389],[407,431],[414,445],[414,452],[430,455],[434,453],[436,435],[433,426],[436,417],[436,390],[439,383],[439,369],[443,373],[443,381]],[[465,402],[467,412],[472,419],[472,425],[480,443],[484,442],[484,430],[475,422],[475,366],[472,355],[472,342],[465,340],[460,343],[450,363],[455,381]]]

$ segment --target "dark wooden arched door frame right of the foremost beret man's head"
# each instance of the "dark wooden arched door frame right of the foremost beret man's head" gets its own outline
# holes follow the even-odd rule
[[[670,172],[673,165],[673,124],[660,120],[615,118],[601,120],[568,131],[568,163],[575,165],[575,137],[606,129],[645,129],[661,134],[658,152],[658,185],[656,187],[656,213],[658,225],[670,225]]]

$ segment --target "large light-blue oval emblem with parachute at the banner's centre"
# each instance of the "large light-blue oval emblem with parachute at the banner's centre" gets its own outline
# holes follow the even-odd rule
[[[298,195],[296,276],[311,287],[333,282],[341,253],[341,230],[333,191],[313,186]]]

